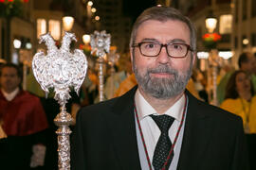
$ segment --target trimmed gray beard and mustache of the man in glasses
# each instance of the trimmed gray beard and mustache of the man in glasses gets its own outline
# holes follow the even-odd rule
[[[137,71],[137,66],[133,64],[138,85],[145,93],[158,99],[168,99],[182,93],[192,76],[192,63],[188,71],[184,75],[168,65],[159,65],[154,69],[148,68],[145,75],[140,75]],[[151,73],[168,73],[172,74],[170,78],[151,77]]]

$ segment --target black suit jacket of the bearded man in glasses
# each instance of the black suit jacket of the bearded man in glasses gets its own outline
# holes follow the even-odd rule
[[[71,144],[76,170],[141,169],[134,114],[137,87],[128,93],[83,108]],[[179,170],[246,170],[247,148],[242,119],[189,97]]]

